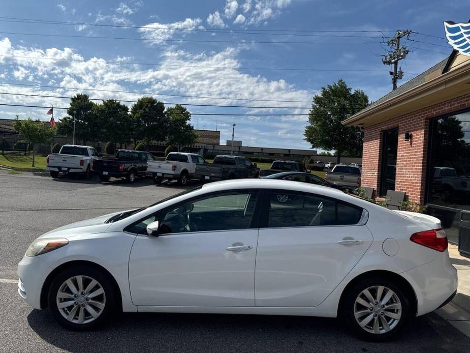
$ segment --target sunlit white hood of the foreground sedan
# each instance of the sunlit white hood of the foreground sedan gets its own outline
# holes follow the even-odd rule
[[[42,234],[42,236],[39,238],[69,238],[81,234],[103,233],[110,226],[110,223],[105,223],[109,218],[126,211],[130,210],[114,212],[104,216],[67,224],[62,227],[48,231],[47,233]]]

